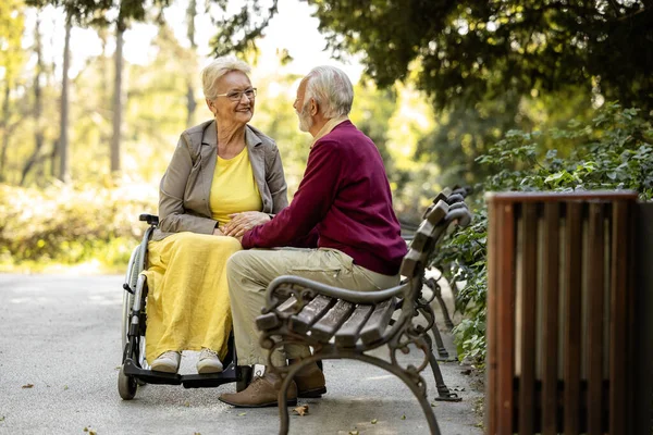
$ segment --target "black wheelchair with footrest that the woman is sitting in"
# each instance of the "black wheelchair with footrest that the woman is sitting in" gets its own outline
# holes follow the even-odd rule
[[[236,347],[233,335],[227,343],[227,355],[223,361],[224,370],[220,373],[184,374],[163,373],[150,370],[145,358],[145,331],[147,325],[147,279],[141,272],[147,264],[147,244],[159,225],[159,217],[152,214],[140,214],[141,222],[147,222],[143,240],[132,251],[125,283],[123,284],[122,312],[122,365],[118,375],[118,393],[123,400],[131,400],[138,386],[146,384],[183,385],[185,388],[217,387],[235,382],[238,391],[245,389],[251,381],[252,368],[239,366],[236,360]]]

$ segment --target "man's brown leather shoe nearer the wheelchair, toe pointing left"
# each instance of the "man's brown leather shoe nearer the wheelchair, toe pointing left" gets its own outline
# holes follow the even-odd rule
[[[262,377],[257,376],[241,393],[225,393],[219,397],[219,400],[237,408],[275,407],[279,405],[281,383],[280,377],[269,374]],[[295,382],[291,383],[286,399],[287,405],[297,405],[297,385]]]

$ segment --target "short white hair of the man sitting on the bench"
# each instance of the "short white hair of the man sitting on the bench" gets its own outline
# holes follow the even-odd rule
[[[335,66],[316,66],[306,76],[304,103],[317,101],[322,115],[328,119],[346,116],[354,102],[354,87],[344,71]]]

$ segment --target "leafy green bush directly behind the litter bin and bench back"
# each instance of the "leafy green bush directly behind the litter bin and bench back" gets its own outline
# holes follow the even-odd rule
[[[589,123],[569,122],[547,132],[510,130],[479,164],[492,172],[476,191],[570,191],[630,189],[641,200],[653,198],[653,127],[651,115],[607,103]],[[562,149],[546,150],[555,141]],[[485,356],[488,214],[477,200],[472,225],[451,236],[432,259],[449,282],[465,282],[456,307],[466,314],[456,326],[459,353],[479,363]]]

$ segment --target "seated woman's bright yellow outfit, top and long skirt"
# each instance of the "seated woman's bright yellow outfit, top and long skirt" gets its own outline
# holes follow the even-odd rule
[[[220,224],[231,220],[230,213],[262,210],[247,148],[233,159],[218,157],[209,203]],[[168,350],[205,347],[224,360],[232,328],[225,265],[241,249],[234,237],[189,232],[148,244],[148,361]]]

